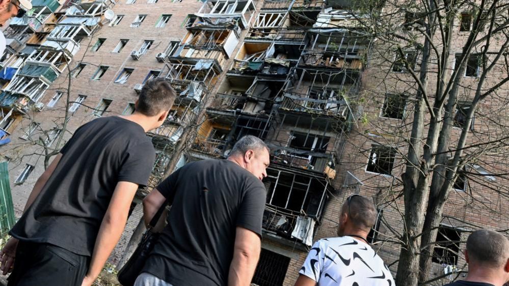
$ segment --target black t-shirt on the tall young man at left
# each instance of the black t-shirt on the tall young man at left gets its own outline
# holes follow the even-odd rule
[[[91,255],[118,182],[146,185],[155,151],[143,128],[120,117],[79,127],[32,206],[10,234]]]

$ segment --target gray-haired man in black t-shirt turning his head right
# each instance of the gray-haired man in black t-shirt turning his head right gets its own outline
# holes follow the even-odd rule
[[[269,148],[241,138],[227,160],[186,164],[143,201],[148,224],[165,200],[169,222],[135,286],[249,285],[260,254]]]

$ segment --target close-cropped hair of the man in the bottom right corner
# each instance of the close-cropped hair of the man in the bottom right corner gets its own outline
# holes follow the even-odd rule
[[[509,259],[509,240],[490,230],[478,230],[467,239],[468,259],[492,267],[501,267]]]

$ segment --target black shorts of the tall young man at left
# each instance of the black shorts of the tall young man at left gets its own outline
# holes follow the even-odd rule
[[[19,241],[8,286],[81,285],[90,257],[48,244]]]

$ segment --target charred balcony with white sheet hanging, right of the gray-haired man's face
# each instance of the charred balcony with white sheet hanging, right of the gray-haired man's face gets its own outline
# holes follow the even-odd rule
[[[263,180],[267,201],[262,227],[265,231],[311,246],[315,225],[322,220],[331,191],[329,182],[306,171],[283,166],[267,168]]]

